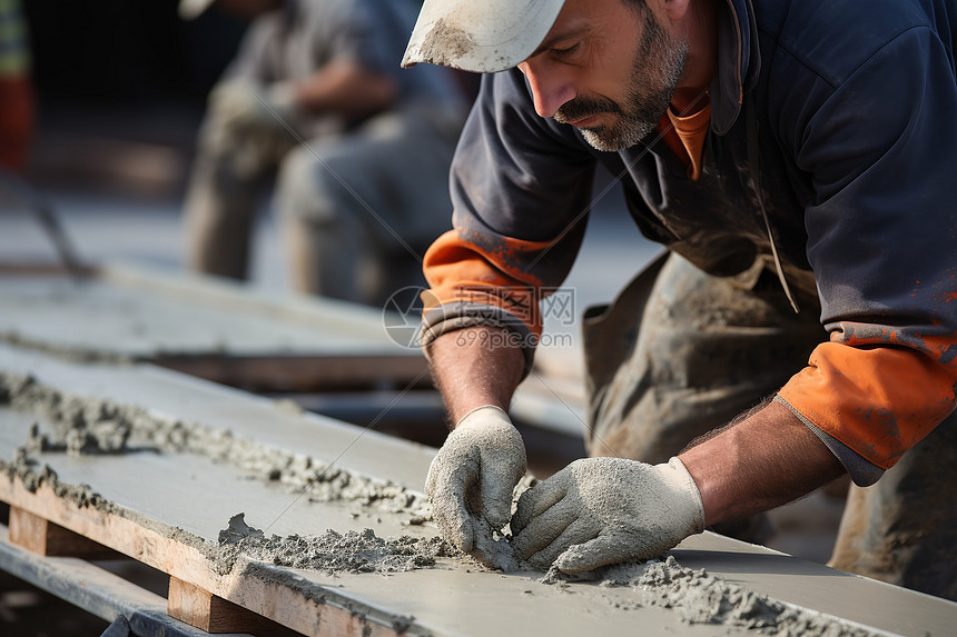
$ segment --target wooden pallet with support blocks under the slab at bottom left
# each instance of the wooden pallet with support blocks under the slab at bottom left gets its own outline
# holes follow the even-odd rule
[[[194,555],[182,545],[161,535],[150,534],[136,522],[112,518],[106,524],[90,520],[88,512],[65,506],[49,489],[26,496],[22,485],[0,477],[3,501],[27,504],[45,515],[68,521],[116,547],[99,544],[17,505],[10,506],[9,535],[0,533],[0,555],[4,570],[17,575],[107,620],[125,615],[140,637],[149,635],[256,634],[276,637],[294,635],[381,635],[396,636],[392,627],[355,607],[334,601],[322,604],[322,610],[304,604],[300,595],[279,586],[268,586],[256,578],[217,581],[208,573],[205,557]],[[7,529],[2,529],[6,531]],[[120,535],[122,534],[122,535]],[[7,537],[3,537],[7,535]],[[120,539],[128,538],[127,540]],[[117,550],[119,549],[119,550]],[[120,553],[127,551],[128,556]],[[150,595],[135,584],[110,576],[90,564],[95,559],[130,557],[165,571],[175,571],[193,581],[170,575],[167,599]],[[67,559],[71,558],[71,559]],[[268,568],[263,566],[263,568]],[[194,584],[198,581],[200,584]],[[223,586],[241,587],[246,607],[211,593]],[[258,604],[250,601],[258,598]],[[286,625],[279,624],[276,619]],[[296,626],[294,630],[287,625]],[[199,630],[191,630],[190,627]]]

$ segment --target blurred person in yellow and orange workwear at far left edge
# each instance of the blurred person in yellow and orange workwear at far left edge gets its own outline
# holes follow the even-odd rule
[[[0,0],[0,170],[22,173],[33,135],[33,88],[20,0]]]

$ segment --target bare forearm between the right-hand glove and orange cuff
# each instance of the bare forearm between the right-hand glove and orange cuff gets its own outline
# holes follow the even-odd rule
[[[823,442],[777,402],[679,458],[698,485],[709,525],[783,505],[845,471]]]

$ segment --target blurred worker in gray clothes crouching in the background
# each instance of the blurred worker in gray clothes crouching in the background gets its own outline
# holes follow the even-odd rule
[[[193,18],[214,0],[182,0]],[[398,66],[416,4],[217,0],[253,18],[213,89],[185,203],[187,266],[245,279],[275,177],[293,287],[372,305],[418,282],[448,223],[448,166],[465,116],[447,69]]]

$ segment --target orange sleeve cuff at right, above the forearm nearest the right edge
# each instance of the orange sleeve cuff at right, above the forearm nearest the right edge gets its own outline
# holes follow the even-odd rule
[[[957,404],[957,368],[908,347],[825,342],[780,390],[810,422],[889,469]]]

